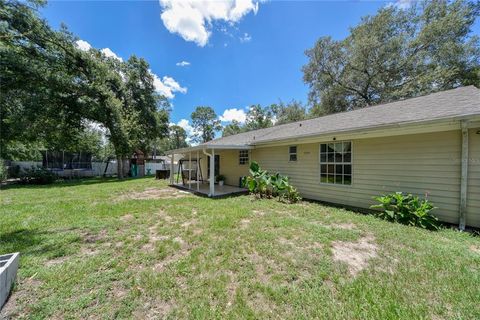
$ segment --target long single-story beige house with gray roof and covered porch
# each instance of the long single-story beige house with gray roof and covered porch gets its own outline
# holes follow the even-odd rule
[[[422,97],[240,133],[172,150],[200,159],[208,185],[188,171],[185,187],[222,192],[214,176],[239,186],[249,163],[290,177],[304,198],[359,208],[403,191],[427,196],[443,221],[480,227],[480,90]],[[202,179],[203,180],[203,179]],[[171,183],[175,184],[173,175]]]

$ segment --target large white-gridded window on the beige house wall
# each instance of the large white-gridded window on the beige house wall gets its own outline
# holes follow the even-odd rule
[[[352,184],[352,143],[320,144],[320,182]]]

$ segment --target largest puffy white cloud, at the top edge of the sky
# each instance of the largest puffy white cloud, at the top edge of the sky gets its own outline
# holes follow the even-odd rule
[[[246,14],[258,11],[258,0],[159,0],[165,28],[184,40],[203,47],[211,35],[212,22],[238,22]]]

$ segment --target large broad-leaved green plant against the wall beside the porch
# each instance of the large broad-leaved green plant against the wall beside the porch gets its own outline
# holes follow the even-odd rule
[[[250,193],[259,197],[278,197],[290,203],[298,202],[302,198],[297,189],[293,187],[287,176],[282,176],[278,172],[270,174],[262,170],[256,161],[250,163],[250,176],[243,180],[243,185],[248,188]]]

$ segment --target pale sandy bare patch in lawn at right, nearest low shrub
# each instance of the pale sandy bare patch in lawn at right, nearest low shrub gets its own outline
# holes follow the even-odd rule
[[[377,256],[377,250],[373,235],[366,235],[355,242],[332,242],[333,260],[347,264],[353,276],[368,266],[369,260]]]

